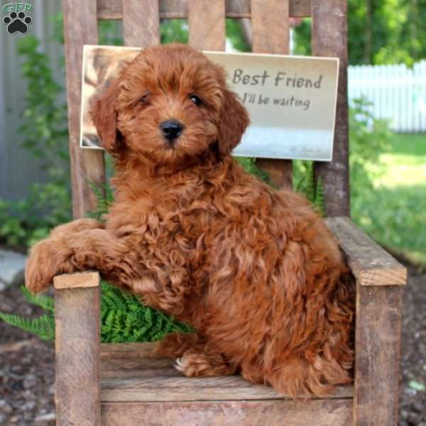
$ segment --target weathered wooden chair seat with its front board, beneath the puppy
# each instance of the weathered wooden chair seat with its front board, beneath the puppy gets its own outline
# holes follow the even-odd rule
[[[241,376],[187,378],[172,359],[150,356],[152,346],[102,344],[103,425],[141,425],[141,418],[170,426],[351,424],[351,386],[328,398],[290,400]]]

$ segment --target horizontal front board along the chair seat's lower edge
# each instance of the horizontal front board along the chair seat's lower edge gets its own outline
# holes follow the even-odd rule
[[[348,426],[351,400],[103,403],[102,425]]]

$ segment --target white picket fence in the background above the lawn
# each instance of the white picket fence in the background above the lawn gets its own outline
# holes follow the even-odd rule
[[[426,60],[405,65],[349,67],[349,99],[366,97],[376,118],[400,132],[426,131]]]

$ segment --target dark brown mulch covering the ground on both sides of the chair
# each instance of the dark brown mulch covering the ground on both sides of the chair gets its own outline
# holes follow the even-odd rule
[[[409,267],[405,288],[399,426],[426,426],[426,275]],[[0,292],[0,310],[40,314],[18,287]],[[0,425],[55,425],[54,348],[0,320]],[[189,426],[189,425],[188,425]]]

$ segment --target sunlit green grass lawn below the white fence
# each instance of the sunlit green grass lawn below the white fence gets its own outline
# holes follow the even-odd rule
[[[379,163],[384,173],[373,191],[362,192],[354,220],[383,246],[426,266],[426,135],[395,134]]]

